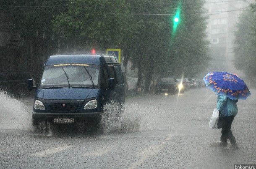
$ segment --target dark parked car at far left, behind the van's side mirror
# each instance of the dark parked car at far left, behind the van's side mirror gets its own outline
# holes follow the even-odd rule
[[[32,79],[35,85],[35,78],[26,72],[1,72],[0,90],[7,92],[11,96],[21,97],[32,94],[27,88],[27,79]]]

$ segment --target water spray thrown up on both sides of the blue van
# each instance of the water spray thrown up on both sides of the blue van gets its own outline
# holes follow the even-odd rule
[[[141,109],[138,103],[120,105],[119,103],[109,103],[104,106],[104,114],[100,123],[100,131],[94,129],[91,124],[77,125],[50,125],[42,122],[37,126],[31,124],[31,107],[22,101],[9,96],[0,91],[0,128],[1,129],[21,129],[31,131],[37,135],[52,136],[58,133],[125,133],[148,130],[148,111]],[[125,107],[125,110],[124,110]],[[123,112],[120,114],[120,112]],[[65,130],[64,130],[65,128]],[[62,132],[63,131],[63,132]]]

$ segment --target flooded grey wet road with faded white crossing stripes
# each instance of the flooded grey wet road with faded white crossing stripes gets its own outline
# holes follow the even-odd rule
[[[256,90],[238,101],[232,132],[239,149],[213,146],[209,129],[217,96],[207,88],[181,95],[128,96],[119,122],[102,129],[54,126],[32,130],[32,99],[0,94],[0,168],[226,168],[256,164]]]

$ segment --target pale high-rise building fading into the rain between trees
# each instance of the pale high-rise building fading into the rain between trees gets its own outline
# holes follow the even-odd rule
[[[210,40],[211,56],[213,60],[207,70],[227,71],[243,76],[233,66],[234,32],[238,18],[254,0],[206,0],[208,10],[208,35]]]

